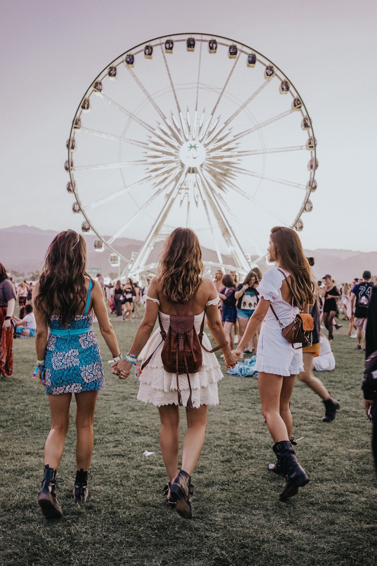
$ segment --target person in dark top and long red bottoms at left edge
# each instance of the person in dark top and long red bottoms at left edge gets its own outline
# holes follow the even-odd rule
[[[0,379],[13,374],[13,327],[16,294],[14,285],[0,263]]]

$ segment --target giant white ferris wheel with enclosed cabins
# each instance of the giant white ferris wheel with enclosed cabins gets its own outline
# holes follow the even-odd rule
[[[214,250],[207,268],[249,271],[272,226],[301,231],[318,167],[292,82],[241,42],[158,37],[110,63],[80,101],[67,140],[67,191],[97,251],[140,279],[177,226]],[[122,238],[144,242],[131,258]],[[113,263],[115,265],[115,263]]]

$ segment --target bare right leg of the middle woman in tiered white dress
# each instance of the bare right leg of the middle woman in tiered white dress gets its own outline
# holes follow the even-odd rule
[[[207,426],[207,405],[186,411],[187,432],[183,439],[182,469],[192,475],[203,448]]]

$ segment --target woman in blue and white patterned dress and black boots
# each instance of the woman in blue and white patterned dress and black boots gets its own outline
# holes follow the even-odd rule
[[[121,358],[101,285],[85,273],[86,243],[73,230],[60,232],[47,250],[34,291],[38,379],[50,403],[51,430],[45,444],[45,473],[38,504],[48,518],[60,518],[55,477],[76,397],[76,480],[73,499],[88,497],[88,468],[93,452],[93,419],[99,389],[105,387],[101,353],[92,328],[93,310],[114,360]],[[49,331],[49,332],[48,332]]]

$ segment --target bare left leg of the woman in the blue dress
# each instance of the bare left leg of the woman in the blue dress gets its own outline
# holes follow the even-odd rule
[[[72,393],[48,395],[51,411],[51,430],[45,444],[45,464],[55,470],[63,456],[64,440],[70,426]]]

